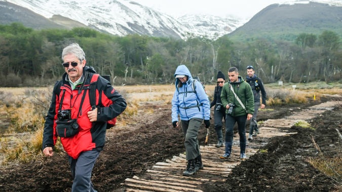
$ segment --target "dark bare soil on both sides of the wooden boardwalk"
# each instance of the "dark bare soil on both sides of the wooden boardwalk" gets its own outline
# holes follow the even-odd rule
[[[326,102],[311,101],[308,104],[268,107],[274,111],[260,111],[257,120],[278,119],[306,108]],[[107,132],[104,151],[94,166],[92,183],[98,191],[124,191],[120,183],[134,175],[140,176],[157,162],[171,159],[185,151],[181,129],[171,124],[171,105],[146,103],[143,108],[153,108],[153,114],[139,114],[131,118],[126,128],[112,128]],[[213,108],[212,108],[213,112]],[[306,157],[316,157],[311,142],[314,135],[323,150],[332,151],[329,145],[337,145],[334,130],[340,121],[341,111],[327,112],[315,119],[312,129],[292,127],[298,132],[289,137],[276,137],[250,160],[237,166],[226,182],[206,183],[204,191],[325,191],[333,187],[330,179],[311,167]],[[333,120],[331,120],[333,118]],[[210,126],[210,143],[216,142],[214,122]],[[247,125],[247,132],[249,130]],[[330,129],[328,129],[330,127]],[[223,133],[224,128],[222,127]],[[199,132],[200,145],[207,134],[204,125]],[[255,140],[255,142],[257,139]],[[254,170],[253,170],[254,169]],[[241,183],[241,186],[240,186]],[[266,188],[265,185],[271,186]],[[72,176],[65,152],[28,164],[12,164],[0,168],[0,191],[71,191]]]

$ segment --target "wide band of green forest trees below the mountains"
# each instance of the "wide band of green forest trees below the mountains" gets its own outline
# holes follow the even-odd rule
[[[65,72],[61,53],[77,42],[87,65],[114,84],[171,84],[178,65],[186,65],[205,84],[217,71],[237,67],[245,78],[253,65],[264,82],[335,81],[342,77],[340,37],[332,31],[301,33],[294,41],[227,36],[186,40],[131,34],[113,36],[87,28],[33,30],[20,23],[0,25],[0,86],[47,86]]]

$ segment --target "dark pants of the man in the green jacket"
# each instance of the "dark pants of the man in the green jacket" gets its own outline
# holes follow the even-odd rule
[[[232,115],[225,115],[225,142],[233,142],[234,125],[238,122],[238,130],[240,135],[240,142],[246,142],[246,122],[247,115],[233,117]]]

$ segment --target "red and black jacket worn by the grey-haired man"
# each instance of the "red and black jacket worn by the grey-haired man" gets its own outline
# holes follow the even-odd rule
[[[93,68],[84,67],[83,75],[86,71],[89,72],[86,79],[82,93],[77,97],[80,85],[71,90],[70,83],[65,80],[67,74],[65,73],[62,80],[57,81],[52,95],[52,102],[46,116],[46,122],[43,133],[43,150],[46,147],[53,147],[56,144],[57,132],[56,123],[57,114],[59,110],[60,100],[64,93],[62,110],[70,109],[71,106],[71,119],[77,119],[79,123],[79,132],[72,137],[61,137],[61,142],[66,153],[73,159],[77,159],[81,152],[95,150],[103,150],[106,134],[106,121],[109,121],[122,112],[125,111],[127,104],[121,94],[116,91],[110,83],[102,77],[98,77],[96,85],[96,105],[100,106],[99,113],[97,114],[97,121],[90,122],[88,112],[91,110],[89,101],[90,82],[95,71]],[[60,89],[59,89],[60,87]],[[81,99],[83,94],[85,100],[82,106],[79,117],[77,117]]]

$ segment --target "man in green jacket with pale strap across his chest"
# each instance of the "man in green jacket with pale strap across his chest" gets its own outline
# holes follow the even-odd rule
[[[225,153],[221,159],[231,157],[234,125],[238,122],[240,135],[240,159],[246,159],[246,121],[250,120],[254,112],[254,97],[250,85],[239,76],[236,67],[228,71],[229,83],[222,87],[221,102],[225,106]],[[234,91],[232,90],[234,89]],[[235,96],[235,94],[236,96]],[[239,101],[240,100],[240,101]]]

